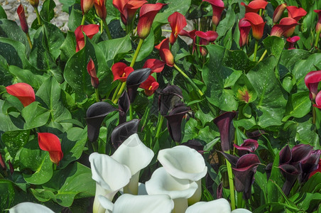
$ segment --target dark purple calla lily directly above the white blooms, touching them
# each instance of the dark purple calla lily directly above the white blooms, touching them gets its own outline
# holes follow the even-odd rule
[[[129,136],[137,133],[139,121],[140,120],[138,119],[133,119],[131,121],[120,124],[119,126],[116,126],[116,128],[111,132],[111,143],[114,148],[119,148],[119,146],[121,146],[121,143],[129,138]]]

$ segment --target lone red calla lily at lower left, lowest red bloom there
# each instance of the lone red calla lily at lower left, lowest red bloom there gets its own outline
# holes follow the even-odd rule
[[[38,133],[38,143],[43,151],[49,152],[50,160],[58,165],[63,158],[59,138],[53,133]]]

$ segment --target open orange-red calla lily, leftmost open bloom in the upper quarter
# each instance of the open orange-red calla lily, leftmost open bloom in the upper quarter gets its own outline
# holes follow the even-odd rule
[[[99,25],[97,24],[89,24],[89,25],[80,25],[75,29],[76,36],[76,52],[85,47],[85,35],[88,38],[92,39],[92,37],[99,32]]]

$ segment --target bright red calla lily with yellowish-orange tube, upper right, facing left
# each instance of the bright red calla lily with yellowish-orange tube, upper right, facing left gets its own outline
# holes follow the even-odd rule
[[[244,20],[249,21],[252,27],[252,35],[256,40],[261,40],[266,22],[258,13],[245,13]]]

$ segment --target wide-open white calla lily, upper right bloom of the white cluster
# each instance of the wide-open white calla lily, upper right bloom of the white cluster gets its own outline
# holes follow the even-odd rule
[[[202,196],[201,179],[207,173],[205,160],[200,153],[188,146],[175,146],[160,150],[157,159],[165,170],[175,178],[196,181],[199,187],[188,202],[194,204],[200,201]]]

